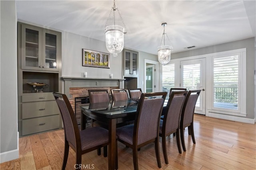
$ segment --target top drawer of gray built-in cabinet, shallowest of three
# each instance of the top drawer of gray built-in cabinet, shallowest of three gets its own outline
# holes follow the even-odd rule
[[[46,100],[55,100],[52,93],[33,93],[22,95],[22,102],[38,102]]]

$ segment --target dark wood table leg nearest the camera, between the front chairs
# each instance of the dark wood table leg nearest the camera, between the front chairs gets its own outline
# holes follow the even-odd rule
[[[116,158],[116,119],[108,120],[108,170],[115,169]]]

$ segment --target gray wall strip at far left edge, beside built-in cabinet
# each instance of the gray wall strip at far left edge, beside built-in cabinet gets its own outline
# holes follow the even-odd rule
[[[15,1],[1,0],[0,8],[0,159],[5,162],[18,158],[17,20]]]

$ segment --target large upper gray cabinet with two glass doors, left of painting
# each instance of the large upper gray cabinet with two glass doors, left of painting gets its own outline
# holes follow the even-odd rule
[[[21,24],[22,69],[59,71],[61,33]]]

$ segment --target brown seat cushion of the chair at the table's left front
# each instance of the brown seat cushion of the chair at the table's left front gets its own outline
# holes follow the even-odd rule
[[[102,127],[90,127],[80,131],[82,150],[108,143],[108,130]]]

